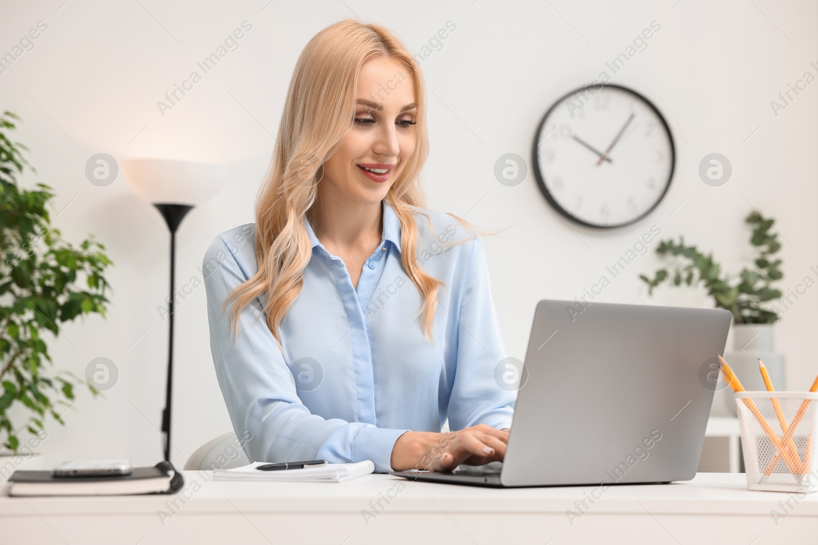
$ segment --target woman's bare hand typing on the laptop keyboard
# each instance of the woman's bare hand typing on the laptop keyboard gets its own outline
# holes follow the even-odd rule
[[[390,463],[394,471],[452,471],[461,463],[482,466],[502,462],[508,440],[507,429],[486,424],[447,433],[407,431],[395,441]]]

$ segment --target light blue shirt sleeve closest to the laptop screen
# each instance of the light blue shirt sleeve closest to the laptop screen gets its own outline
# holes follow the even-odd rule
[[[517,392],[502,380],[506,343],[488,281],[483,243],[474,239],[458,316],[457,365],[448,418],[452,430],[488,424],[511,427]],[[497,371],[497,369],[501,369]]]

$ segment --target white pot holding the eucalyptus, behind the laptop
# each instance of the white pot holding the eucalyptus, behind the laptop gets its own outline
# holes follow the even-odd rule
[[[762,360],[770,373],[770,380],[775,390],[786,388],[784,373],[784,356],[775,352],[772,339],[773,324],[732,324],[724,359],[739,377],[745,390],[764,391],[762,373],[758,371],[758,360]],[[732,344],[730,344],[732,337]],[[721,390],[713,397],[710,415],[714,417],[734,417],[735,400],[730,386],[721,381]]]

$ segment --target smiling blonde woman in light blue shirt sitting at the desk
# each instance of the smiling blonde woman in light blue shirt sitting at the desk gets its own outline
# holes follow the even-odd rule
[[[257,221],[205,255],[213,361],[249,459],[502,460],[506,348],[474,229],[423,208],[425,111],[415,59],[380,26],[340,21],[299,56]]]

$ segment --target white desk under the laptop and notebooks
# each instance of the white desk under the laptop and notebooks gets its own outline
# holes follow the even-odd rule
[[[596,487],[483,489],[371,475],[344,484],[234,483],[185,471],[185,494],[9,498],[0,543],[719,543],[818,542],[818,494],[775,524],[789,494],[746,489],[744,474],[699,473],[671,485],[620,485],[578,520],[565,511]],[[194,484],[196,483],[196,485]],[[398,485],[400,484],[400,485]],[[5,487],[5,485],[3,485]],[[402,489],[401,489],[402,488]],[[181,493],[180,493],[181,494]],[[384,508],[376,514],[374,502]],[[178,508],[169,505],[176,500]],[[170,515],[160,520],[158,511]],[[365,520],[362,511],[374,518]],[[368,523],[368,524],[367,524]]]

